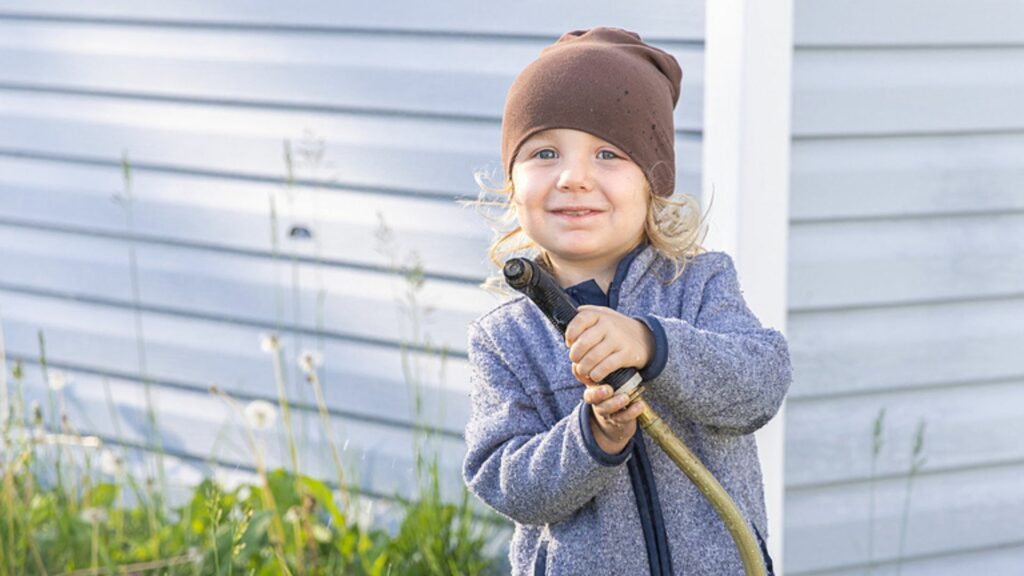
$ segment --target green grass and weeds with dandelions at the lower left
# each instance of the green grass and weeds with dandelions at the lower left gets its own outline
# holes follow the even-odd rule
[[[77,433],[63,415],[57,419],[60,429],[51,429],[38,405],[23,410],[18,390],[24,389],[25,372],[14,363],[15,389],[3,428],[0,574],[441,575],[497,570],[484,553],[487,523],[474,518],[465,489],[461,501],[442,499],[434,456],[417,455],[424,462],[418,494],[399,499],[402,516],[396,530],[356,522],[353,509],[345,506],[360,498],[357,488],[329,486],[288,469],[265,470],[260,441],[251,431],[257,482],[226,490],[207,479],[194,487],[184,504],[161,506],[166,499],[147,496],[156,490],[153,481],[133,479],[123,466],[103,474],[93,465],[104,452],[108,466],[123,462],[117,447]],[[215,394],[233,403],[224,393]],[[57,463],[59,485],[53,474]],[[139,484],[151,486],[144,490]],[[134,495],[134,505],[125,505],[126,495]]]

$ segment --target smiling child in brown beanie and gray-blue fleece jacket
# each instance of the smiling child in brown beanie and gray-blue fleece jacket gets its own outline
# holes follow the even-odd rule
[[[632,366],[644,398],[736,501],[766,565],[753,433],[791,381],[786,342],[748,310],[731,258],[697,245],[675,188],[682,73],[620,29],[565,34],[516,78],[502,155],[518,227],[581,304],[564,338],[522,296],[469,328],[463,474],[515,522],[513,574],[742,574],[714,508],[599,383]],[[697,210],[699,212],[699,210]],[[770,570],[770,568],[769,568]]]

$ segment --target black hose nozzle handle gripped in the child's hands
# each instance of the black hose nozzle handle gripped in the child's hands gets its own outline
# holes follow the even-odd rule
[[[555,279],[537,262],[527,258],[509,259],[502,272],[505,274],[505,282],[537,304],[537,307],[541,308],[544,316],[564,336],[565,328],[575,318],[577,306]],[[605,376],[603,383],[617,390],[636,375],[636,368],[620,368]]]

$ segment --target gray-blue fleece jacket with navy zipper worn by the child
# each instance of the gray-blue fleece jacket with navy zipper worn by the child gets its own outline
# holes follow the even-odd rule
[[[788,389],[785,339],[746,307],[728,254],[698,255],[666,286],[671,273],[641,246],[620,263],[606,303],[650,327],[644,397],[736,501],[767,558],[753,433]],[[594,303],[581,290],[568,291]],[[564,339],[532,302],[518,296],[471,323],[469,360],[463,475],[515,522],[513,574],[743,573],[714,508],[639,426],[618,454],[597,445]]]

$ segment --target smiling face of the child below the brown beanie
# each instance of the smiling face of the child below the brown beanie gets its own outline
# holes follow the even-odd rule
[[[553,258],[614,263],[643,238],[644,181],[617,148],[588,132],[554,128],[519,149],[513,204],[523,232]]]

